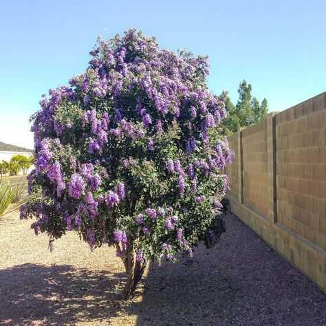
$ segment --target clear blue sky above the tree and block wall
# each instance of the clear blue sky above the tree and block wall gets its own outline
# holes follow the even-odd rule
[[[84,71],[96,37],[130,27],[208,55],[208,84],[282,111],[326,90],[326,1],[0,0],[0,141],[32,148],[28,118],[49,88]]]

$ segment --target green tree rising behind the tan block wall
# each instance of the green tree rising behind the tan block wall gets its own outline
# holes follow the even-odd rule
[[[243,80],[238,89],[239,100],[234,106],[230,98],[226,98],[227,116],[222,121],[221,127],[224,134],[230,135],[241,128],[250,126],[266,118],[268,113],[267,100],[264,98],[261,104],[256,97],[252,97],[252,86]]]

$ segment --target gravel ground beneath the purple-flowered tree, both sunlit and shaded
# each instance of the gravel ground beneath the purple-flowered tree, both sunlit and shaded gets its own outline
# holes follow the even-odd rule
[[[113,250],[69,232],[49,252],[29,225],[0,219],[0,325],[326,325],[326,296],[233,215],[215,248],[151,264],[127,303]]]

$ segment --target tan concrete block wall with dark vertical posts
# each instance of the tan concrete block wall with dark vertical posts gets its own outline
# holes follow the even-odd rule
[[[226,169],[232,211],[324,292],[325,139],[323,93],[228,137]]]

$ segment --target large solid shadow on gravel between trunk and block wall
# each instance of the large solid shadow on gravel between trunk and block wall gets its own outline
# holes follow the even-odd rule
[[[326,296],[235,215],[214,248],[151,265],[144,325],[326,325]]]

